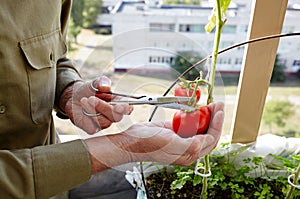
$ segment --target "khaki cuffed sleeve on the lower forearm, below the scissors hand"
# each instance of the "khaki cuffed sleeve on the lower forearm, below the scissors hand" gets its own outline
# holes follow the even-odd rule
[[[0,150],[1,198],[50,198],[91,176],[89,153],[83,141],[23,150]]]

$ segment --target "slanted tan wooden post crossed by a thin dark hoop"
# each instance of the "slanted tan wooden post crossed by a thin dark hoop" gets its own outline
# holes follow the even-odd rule
[[[248,39],[281,33],[288,0],[254,0]],[[256,141],[270,85],[279,39],[245,49],[238,98],[231,126],[232,143]]]

